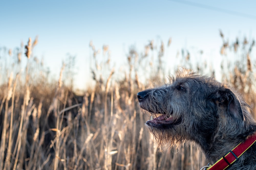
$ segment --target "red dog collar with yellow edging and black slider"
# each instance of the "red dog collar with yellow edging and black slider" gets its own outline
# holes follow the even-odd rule
[[[225,156],[219,159],[215,164],[210,166],[204,166],[201,169],[207,170],[224,170],[238,160],[238,158],[249,149],[252,144],[256,141],[256,134],[250,136],[243,143],[239,143],[234,149],[229,151]]]

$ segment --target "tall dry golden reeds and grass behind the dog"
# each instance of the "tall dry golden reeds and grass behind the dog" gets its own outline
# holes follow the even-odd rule
[[[234,84],[255,110],[254,44],[238,42],[236,48],[228,48],[221,37],[223,79]],[[150,41],[143,53],[131,47],[127,68],[121,73],[111,67],[109,46],[100,53],[90,42],[95,85],[82,96],[63,83],[65,64],[59,80],[49,81],[49,74],[33,56],[36,44],[37,38],[33,43],[30,38],[25,46],[24,72],[12,69],[22,67],[23,45],[13,53],[5,50],[5,57],[15,57],[15,67],[1,70],[0,169],[200,169],[207,164],[201,151],[189,143],[179,150],[159,152],[144,127],[149,117],[138,108],[138,91],[152,82],[167,81],[163,58],[171,39],[167,46]],[[238,50],[239,62],[230,60]],[[177,60],[176,68],[194,67],[187,50]],[[194,69],[203,72],[208,67],[209,63],[198,61]]]

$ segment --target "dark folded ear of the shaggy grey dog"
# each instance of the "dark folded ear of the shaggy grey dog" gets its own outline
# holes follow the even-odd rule
[[[243,121],[244,116],[239,98],[228,88],[221,88],[209,95],[219,107],[227,109],[226,112],[238,121]]]

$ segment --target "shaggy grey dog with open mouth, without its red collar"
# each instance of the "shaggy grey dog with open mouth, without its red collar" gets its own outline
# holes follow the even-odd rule
[[[143,110],[158,116],[146,127],[159,146],[193,142],[211,164],[256,132],[242,96],[213,77],[182,69],[170,84],[141,91],[137,97]],[[256,169],[256,143],[228,169]]]

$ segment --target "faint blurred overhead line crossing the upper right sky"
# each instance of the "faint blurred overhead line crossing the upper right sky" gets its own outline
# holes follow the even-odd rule
[[[199,3],[190,2],[190,1],[183,1],[183,0],[168,0],[168,1],[173,1],[173,2],[177,2],[177,3],[181,3],[181,4],[195,6],[195,7],[198,7],[198,8],[210,9],[210,10],[213,10],[213,11],[223,12],[223,13],[226,13],[226,14],[231,14],[231,15],[236,15],[236,16],[239,16],[239,17],[245,17],[245,18],[250,18],[250,19],[256,20],[255,15],[244,14],[242,12],[232,11],[232,10],[228,10],[228,9],[222,9],[222,8],[213,7],[213,6],[204,5],[204,4],[199,4]]]

